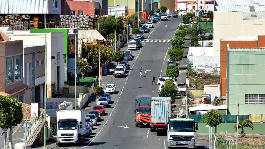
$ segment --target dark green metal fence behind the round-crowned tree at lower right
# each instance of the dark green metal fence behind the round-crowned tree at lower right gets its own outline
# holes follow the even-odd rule
[[[197,123],[205,123],[204,115],[202,114],[190,114],[191,119],[194,119]],[[222,123],[236,123],[236,115],[222,115]],[[249,115],[239,115],[238,120],[243,121],[249,119]]]

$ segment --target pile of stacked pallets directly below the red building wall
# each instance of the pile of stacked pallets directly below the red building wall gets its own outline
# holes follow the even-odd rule
[[[61,28],[93,29],[93,15],[61,15]]]

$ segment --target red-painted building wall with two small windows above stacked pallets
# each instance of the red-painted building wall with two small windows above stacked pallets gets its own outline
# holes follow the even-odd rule
[[[86,2],[86,1],[66,0],[66,5],[65,5],[66,15],[69,15],[71,10],[76,11],[75,12],[76,15],[78,15],[79,10],[83,10],[84,15],[87,15],[87,14],[93,15],[95,14],[94,8],[95,8],[95,2]],[[64,0],[61,1],[61,12],[62,12],[62,15],[64,15]]]

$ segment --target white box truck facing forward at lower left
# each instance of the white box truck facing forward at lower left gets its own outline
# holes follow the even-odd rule
[[[85,142],[86,112],[85,110],[60,110],[56,113],[57,146],[61,144]]]

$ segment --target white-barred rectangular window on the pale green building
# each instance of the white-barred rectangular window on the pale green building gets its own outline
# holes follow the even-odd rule
[[[265,104],[265,94],[245,94],[245,104]]]

